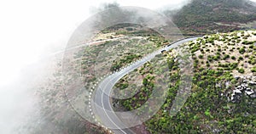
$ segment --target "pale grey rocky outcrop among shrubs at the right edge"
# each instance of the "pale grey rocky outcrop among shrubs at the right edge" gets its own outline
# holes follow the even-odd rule
[[[240,84],[231,92],[231,97],[228,100],[232,103],[239,103],[241,96],[247,95],[249,98],[256,98],[256,76],[235,76]]]

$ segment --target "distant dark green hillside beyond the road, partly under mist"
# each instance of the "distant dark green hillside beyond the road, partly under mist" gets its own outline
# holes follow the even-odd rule
[[[166,11],[185,35],[229,32],[256,27],[256,6],[248,0],[192,0],[177,11]]]

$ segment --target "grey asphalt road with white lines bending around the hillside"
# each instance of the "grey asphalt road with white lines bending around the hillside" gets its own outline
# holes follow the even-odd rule
[[[138,67],[142,66],[149,60],[153,59],[155,55],[160,54],[162,50],[169,50],[173,47],[177,47],[184,42],[194,41],[198,37],[189,37],[177,42],[172,42],[172,44],[168,45],[167,47],[160,48],[159,50],[155,51],[154,53],[148,54],[141,60],[138,60],[135,63],[125,67],[122,70],[119,70],[112,75],[108,75],[104,80],[102,80],[98,86],[96,87],[95,92],[93,93],[91,99],[91,105],[93,108],[93,113],[96,115],[97,120],[101,122],[103,126],[108,127],[113,133],[117,134],[130,134],[134,133],[131,129],[125,127],[124,123],[119,120],[119,117],[114,114],[114,111],[111,106],[110,102],[110,93],[117,81],[121,79],[124,75],[128,74],[132,70],[137,69]]]

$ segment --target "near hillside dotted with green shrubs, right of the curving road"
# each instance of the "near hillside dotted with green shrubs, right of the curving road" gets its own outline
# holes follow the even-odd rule
[[[150,133],[255,133],[256,132],[256,31],[219,33],[188,42],[194,59],[191,93],[183,108],[169,114],[180,86],[177,51],[162,53],[168,61],[172,83],[166,103],[144,123]],[[128,99],[113,99],[115,109],[139,108],[156,83],[153,61],[125,75],[115,90],[139,90]],[[140,78],[140,79],[136,79]],[[132,80],[141,82],[135,87]],[[138,84],[137,84],[138,85]],[[145,131],[143,131],[145,132]],[[142,132],[142,133],[143,133]]]

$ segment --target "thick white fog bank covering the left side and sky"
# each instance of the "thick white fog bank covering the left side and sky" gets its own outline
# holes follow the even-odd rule
[[[39,100],[37,92],[59,70],[57,62],[61,62],[69,36],[104,3],[113,2],[161,11],[182,8],[189,0],[0,2],[0,133],[16,133],[20,126],[36,123],[30,121],[44,121],[38,111],[44,100]]]

